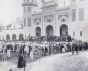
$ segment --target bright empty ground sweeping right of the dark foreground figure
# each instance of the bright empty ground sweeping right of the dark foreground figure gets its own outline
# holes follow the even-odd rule
[[[57,54],[32,63],[30,71],[88,71],[88,51]]]

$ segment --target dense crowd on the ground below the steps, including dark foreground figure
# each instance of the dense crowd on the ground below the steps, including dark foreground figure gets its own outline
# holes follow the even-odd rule
[[[0,43],[1,60],[4,61],[11,58],[13,54],[17,54],[18,68],[26,66],[26,59],[35,61],[44,56],[72,52],[72,55],[79,51],[88,50],[88,43],[82,41],[72,42],[2,42]]]

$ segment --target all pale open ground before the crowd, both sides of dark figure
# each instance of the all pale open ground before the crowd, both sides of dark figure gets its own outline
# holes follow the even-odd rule
[[[0,71],[18,71],[17,59],[0,63]],[[26,71],[88,71],[88,51],[79,52],[78,55],[69,53],[56,54],[43,57],[35,62],[28,63]],[[23,71],[21,69],[20,71]]]

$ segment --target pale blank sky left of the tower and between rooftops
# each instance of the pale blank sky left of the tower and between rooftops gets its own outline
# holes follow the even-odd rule
[[[40,4],[40,0],[37,0]],[[23,15],[23,0],[0,0],[0,25],[8,25],[16,18],[22,18]],[[66,5],[69,0],[66,0]],[[58,6],[64,5],[64,0],[58,0]],[[41,7],[41,6],[39,6]]]

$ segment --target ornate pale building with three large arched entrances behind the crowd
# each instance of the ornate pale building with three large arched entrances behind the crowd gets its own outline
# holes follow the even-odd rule
[[[70,0],[70,5],[58,8],[55,0],[42,0],[41,11],[35,11],[36,0],[24,0],[24,23],[21,29],[0,31],[1,40],[22,40],[29,36],[65,36],[88,41],[88,2]]]

